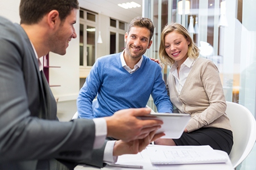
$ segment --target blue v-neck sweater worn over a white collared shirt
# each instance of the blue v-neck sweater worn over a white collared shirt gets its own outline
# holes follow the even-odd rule
[[[112,116],[127,108],[146,107],[152,95],[158,112],[172,113],[161,67],[143,56],[141,67],[130,74],[122,67],[121,53],[98,58],[77,98],[80,118]],[[98,104],[92,109],[97,95]]]

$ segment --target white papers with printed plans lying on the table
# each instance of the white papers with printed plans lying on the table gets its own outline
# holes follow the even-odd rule
[[[106,166],[108,169],[159,169],[156,165],[164,164],[207,164],[225,163],[228,158],[213,150],[210,146],[162,146],[149,145],[145,150],[136,155],[118,156],[115,167]]]

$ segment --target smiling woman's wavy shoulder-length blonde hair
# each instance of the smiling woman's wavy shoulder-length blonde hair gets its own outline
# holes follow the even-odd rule
[[[199,57],[199,48],[196,46],[195,42],[191,39],[188,30],[183,27],[183,25],[178,23],[172,23],[168,24],[163,28],[163,31],[161,33],[161,40],[160,40],[160,46],[159,46],[159,57],[162,63],[166,65],[173,65],[175,60],[168,56],[165,50],[164,45],[164,37],[170,32],[176,31],[177,33],[180,33],[185,37],[187,41],[190,42],[188,45],[188,57],[197,58]]]

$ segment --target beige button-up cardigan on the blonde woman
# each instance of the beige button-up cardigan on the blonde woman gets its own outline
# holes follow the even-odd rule
[[[209,127],[232,130],[225,113],[226,100],[220,75],[209,59],[196,59],[180,95],[175,88],[175,78],[170,73],[167,90],[178,112],[191,114],[191,120],[186,127],[188,133]]]

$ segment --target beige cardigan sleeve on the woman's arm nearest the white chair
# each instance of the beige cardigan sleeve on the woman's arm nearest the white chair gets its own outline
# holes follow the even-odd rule
[[[202,66],[201,81],[209,99],[209,106],[189,120],[187,129],[191,132],[211,124],[226,111],[226,100],[218,69],[212,61]],[[202,103],[205,105],[205,103]]]

